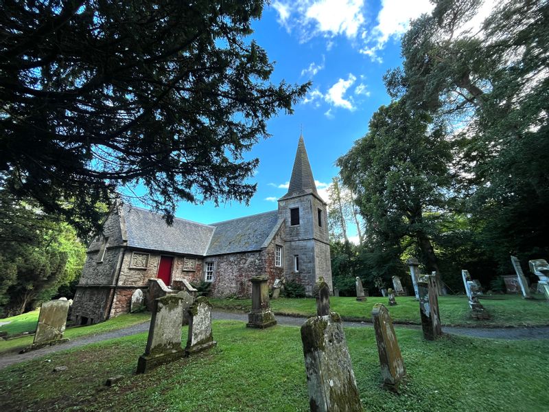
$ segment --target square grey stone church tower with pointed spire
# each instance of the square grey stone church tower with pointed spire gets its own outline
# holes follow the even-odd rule
[[[312,295],[318,277],[332,289],[327,203],[316,191],[313,172],[299,137],[288,193],[279,198],[279,219],[285,222],[284,268],[288,280]]]

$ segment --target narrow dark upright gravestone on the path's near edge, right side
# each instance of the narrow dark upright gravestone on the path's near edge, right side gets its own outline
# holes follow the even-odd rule
[[[441,317],[439,314],[439,297],[434,276],[424,275],[417,282],[419,291],[419,314],[423,336],[434,341],[442,335]]]

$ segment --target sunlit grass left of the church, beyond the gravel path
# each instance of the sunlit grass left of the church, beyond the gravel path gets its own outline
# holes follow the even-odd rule
[[[38,322],[39,310],[19,314],[18,316],[0,319],[3,321],[12,321],[8,325],[3,325],[0,330],[5,330],[8,334],[18,334],[21,332],[34,332],[36,330],[36,323]],[[80,326],[78,328],[67,328],[63,337],[74,339],[79,336],[100,334],[103,332],[110,332],[111,330],[117,330],[127,328],[128,326],[137,325],[137,323],[145,322],[150,319],[150,313],[128,313],[121,314],[118,317],[109,319],[108,321],[97,323],[96,325]],[[2,352],[19,351],[23,347],[30,346],[34,336],[21,336],[20,338],[10,339],[9,341],[0,340],[0,354]]]

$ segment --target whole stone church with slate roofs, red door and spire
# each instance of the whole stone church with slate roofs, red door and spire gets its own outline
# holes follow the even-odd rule
[[[285,276],[312,295],[319,276],[331,288],[327,204],[318,195],[299,138],[288,193],[278,209],[202,225],[162,216],[132,205],[118,205],[89,245],[71,318],[97,323],[130,311],[138,288],[147,295],[150,279],[166,290],[211,282],[211,296],[249,296],[250,277]],[[156,282],[162,284],[162,282]]]

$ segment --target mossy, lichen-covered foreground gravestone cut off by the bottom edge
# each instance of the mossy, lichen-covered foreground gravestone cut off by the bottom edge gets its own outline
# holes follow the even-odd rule
[[[362,411],[351,356],[337,313],[307,319],[301,326],[311,411]]]

